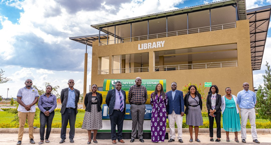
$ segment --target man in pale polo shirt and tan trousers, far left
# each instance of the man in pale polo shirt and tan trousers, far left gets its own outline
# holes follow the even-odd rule
[[[24,83],[26,86],[20,88],[17,94],[17,102],[18,106],[18,117],[19,117],[19,131],[18,131],[18,142],[17,145],[21,145],[23,139],[23,129],[26,124],[26,119],[29,126],[29,139],[31,144],[35,144],[34,142],[34,116],[36,112],[35,104],[39,100],[38,90],[32,87],[32,80],[27,79]]]

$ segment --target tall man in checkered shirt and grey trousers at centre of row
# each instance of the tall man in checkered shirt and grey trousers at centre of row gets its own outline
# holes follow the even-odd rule
[[[134,142],[134,139],[138,135],[140,142],[143,140],[143,122],[145,115],[145,102],[147,101],[147,89],[144,86],[141,86],[142,80],[140,77],[137,77],[135,80],[135,85],[131,86],[128,93],[128,100],[131,105],[131,116],[132,116],[132,136],[130,142]]]

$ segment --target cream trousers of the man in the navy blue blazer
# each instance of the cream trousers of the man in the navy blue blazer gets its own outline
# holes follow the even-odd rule
[[[182,127],[183,127],[183,117],[180,114],[175,114],[174,110],[172,111],[171,114],[168,115],[168,123],[169,123],[169,128],[170,128],[170,138],[175,139],[175,122],[178,128],[178,140],[182,139],[183,137],[183,132],[182,132]]]

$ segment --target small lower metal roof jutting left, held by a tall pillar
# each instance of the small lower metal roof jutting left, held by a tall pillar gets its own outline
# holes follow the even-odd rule
[[[107,34],[101,34],[101,39],[107,38]],[[79,37],[70,37],[71,40],[92,46],[92,43],[96,40],[99,40],[99,34],[97,35],[88,35],[88,36],[79,36]]]

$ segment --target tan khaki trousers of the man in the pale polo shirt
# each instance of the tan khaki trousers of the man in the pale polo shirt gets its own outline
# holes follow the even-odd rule
[[[34,139],[33,136],[33,123],[34,123],[34,112],[20,112],[18,111],[18,117],[19,117],[19,132],[18,132],[18,141],[21,141],[23,139],[23,129],[24,125],[26,124],[26,119],[29,126],[29,139]]]

